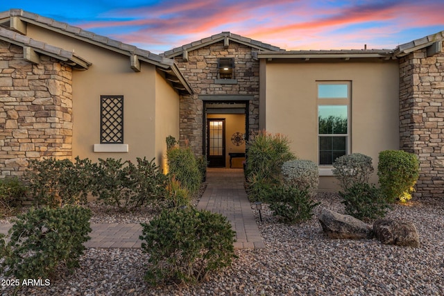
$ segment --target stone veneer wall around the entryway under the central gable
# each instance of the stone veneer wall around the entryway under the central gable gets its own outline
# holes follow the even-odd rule
[[[254,99],[249,102],[250,134],[259,130],[259,61],[253,60],[251,52],[252,48],[243,44],[230,42],[228,49],[224,49],[223,42],[218,42],[189,52],[188,62],[175,58],[194,90],[194,95],[180,98],[180,145],[185,145],[187,140],[194,153],[202,154],[203,102],[198,95],[253,95]],[[234,58],[237,84],[214,83],[218,58]]]

